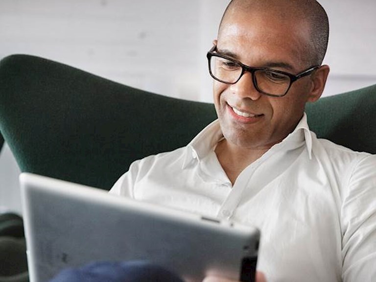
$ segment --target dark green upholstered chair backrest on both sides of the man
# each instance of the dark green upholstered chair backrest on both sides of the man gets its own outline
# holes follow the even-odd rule
[[[376,86],[307,106],[313,131],[376,153]],[[0,62],[0,131],[22,171],[109,189],[136,159],[186,145],[212,104],[147,93],[28,55]]]

